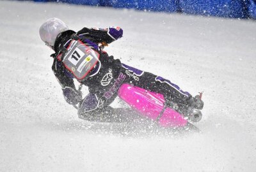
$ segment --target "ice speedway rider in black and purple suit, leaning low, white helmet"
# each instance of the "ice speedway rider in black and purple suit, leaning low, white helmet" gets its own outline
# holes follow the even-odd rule
[[[53,57],[52,71],[61,85],[63,96],[67,103],[78,106],[80,118],[95,120],[95,114],[111,113],[114,109],[109,104],[114,101],[123,83],[130,83],[136,87],[163,94],[166,102],[173,102],[179,107],[202,109],[204,106],[198,96],[192,97],[170,80],[123,64],[119,59],[114,59],[112,55],[104,52],[102,47],[122,38],[123,30],[120,27],[107,29],[84,27],[75,32],[68,29],[68,26],[59,18],[49,18],[41,25],[39,32],[45,45],[55,52],[51,55]],[[79,63],[79,57],[81,57],[79,52],[71,55],[68,62],[63,59],[68,48],[71,48],[74,43],[81,42],[90,47],[88,52],[92,53],[92,56],[98,55],[99,59],[86,69],[84,68],[83,76],[80,77],[73,68]],[[77,79],[88,87],[90,93],[84,99],[81,91],[76,89],[73,79]]]

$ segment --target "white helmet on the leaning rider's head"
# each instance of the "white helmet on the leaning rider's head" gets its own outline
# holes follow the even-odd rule
[[[49,18],[39,29],[40,38],[46,45],[53,47],[60,32],[68,30],[68,26],[59,18]]]

